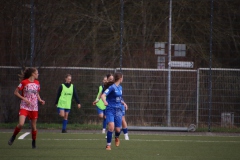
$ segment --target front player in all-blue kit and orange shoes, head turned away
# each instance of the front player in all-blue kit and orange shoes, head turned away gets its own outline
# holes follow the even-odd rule
[[[108,124],[106,150],[111,150],[112,134],[115,130],[115,145],[120,145],[119,135],[122,127],[122,73],[114,74],[114,84],[108,87],[101,98],[106,106],[106,120]]]

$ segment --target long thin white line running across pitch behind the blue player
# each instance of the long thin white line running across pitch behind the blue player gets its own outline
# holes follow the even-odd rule
[[[102,141],[105,139],[41,139],[43,141]],[[105,140],[106,141],[106,140]],[[131,139],[129,141],[141,142],[196,142],[196,143],[240,143],[240,141],[204,141],[204,140],[144,140]]]

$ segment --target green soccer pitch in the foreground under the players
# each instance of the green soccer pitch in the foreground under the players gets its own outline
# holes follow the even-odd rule
[[[100,132],[100,131],[99,131]],[[25,132],[20,132],[18,137]],[[106,151],[104,134],[81,131],[62,134],[39,131],[37,148],[31,148],[31,134],[7,144],[12,132],[0,132],[1,160],[125,159],[125,160],[239,160],[239,136],[142,134],[130,132],[130,140],[120,136],[120,146]]]

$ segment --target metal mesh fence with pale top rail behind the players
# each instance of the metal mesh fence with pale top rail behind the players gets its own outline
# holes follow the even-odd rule
[[[98,124],[96,107],[92,105],[97,95],[98,86],[106,73],[118,69],[111,68],[41,68],[40,82],[42,99],[45,106],[40,106],[39,122],[58,123],[55,98],[59,85],[64,82],[64,75],[70,73],[77,88],[82,108],[77,109],[73,103],[70,123]],[[19,99],[13,95],[18,85],[17,73],[20,68],[1,68],[1,76],[12,77],[3,81],[0,91],[3,99],[1,122],[13,122],[18,119]],[[167,107],[168,70],[167,69],[133,69],[122,68],[124,73],[123,97],[129,106],[127,121],[131,126],[147,127],[188,127],[195,124],[207,128],[239,127],[239,88],[240,70],[215,69],[212,76],[212,103],[209,105],[208,72],[206,68],[198,70],[171,70],[172,89],[171,107]],[[58,74],[55,74],[58,73]],[[61,76],[59,76],[59,74]],[[4,78],[5,80],[5,78]],[[209,110],[211,107],[211,113]],[[170,113],[168,115],[167,113]],[[170,116],[170,117],[168,117]]]

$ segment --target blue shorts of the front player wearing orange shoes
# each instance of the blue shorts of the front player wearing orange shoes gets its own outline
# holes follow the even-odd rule
[[[122,127],[122,108],[106,108],[106,122],[114,122],[114,126],[121,128]]]

